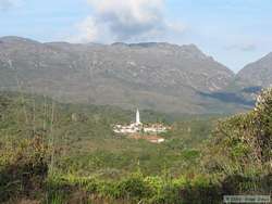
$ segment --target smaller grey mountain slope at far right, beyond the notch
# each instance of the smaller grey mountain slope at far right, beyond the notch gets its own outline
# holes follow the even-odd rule
[[[243,87],[270,87],[272,85],[272,52],[245,66],[236,76]]]

